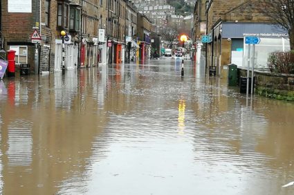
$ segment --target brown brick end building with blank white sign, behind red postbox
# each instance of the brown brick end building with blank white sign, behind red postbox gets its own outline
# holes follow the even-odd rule
[[[35,53],[39,53],[39,47],[30,40],[33,27],[39,29],[39,5],[33,1],[24,0],[15,3],[11,0],[1,1],[1,38],[4,50],[15,50],[16,66],[29,64],[31,72],[39,70],[35,67]],[[39,64],[37,64],[38,66]]]

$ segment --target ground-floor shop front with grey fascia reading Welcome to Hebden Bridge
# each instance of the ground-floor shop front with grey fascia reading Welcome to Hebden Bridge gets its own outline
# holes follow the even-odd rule
[[[267,68],[268,56],[273,51],[290,50],[288,33],[275,24],[221,22],[211,31],[209,64],[216,66],[218,75],[223,66],[237,64],[246,66],[248,44],[244,37],[259,37],[255,45],[255,67]]]

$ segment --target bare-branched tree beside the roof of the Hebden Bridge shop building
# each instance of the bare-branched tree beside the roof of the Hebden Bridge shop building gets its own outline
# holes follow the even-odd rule
[[[293,0],[259,0],[264,6],[264,14],[277,25],[288,31],[290,48],[294,50],[294,1]]]

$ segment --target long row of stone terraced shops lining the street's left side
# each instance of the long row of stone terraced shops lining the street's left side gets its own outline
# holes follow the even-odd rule
[[[63,62],[66,70],[122,63],[125,56],[131,58],[126,44],[129,51],[139,47],[137,10],[131,1],[16,2],[1,1],[1,48],[16,50],[17,66],[29,64],[31,73],[62,71]],[[37,43],[30,39],[33,28],[42,38]],[[62,30],[66,32],[64,37],[60,35]]]

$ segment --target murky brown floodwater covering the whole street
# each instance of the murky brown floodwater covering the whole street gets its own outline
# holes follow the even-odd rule
[[[294,194],[293,116],[168,59],[5,78],[0,194]]]

